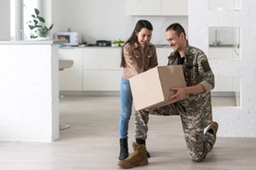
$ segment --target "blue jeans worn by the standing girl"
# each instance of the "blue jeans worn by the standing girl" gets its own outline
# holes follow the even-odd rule
[[[119,117],[119,139],[128,139],[128,127],[131,117],[132,95],[129,80],[121,78],[121,113]]]

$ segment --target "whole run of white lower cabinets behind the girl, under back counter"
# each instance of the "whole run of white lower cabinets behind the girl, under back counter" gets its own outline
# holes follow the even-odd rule
[[[159,65],[167,65],[172,48],[156,48]],[[60,59],[73,67],[60,71],[62,91],[119,91],[121,48],[59,48]]]

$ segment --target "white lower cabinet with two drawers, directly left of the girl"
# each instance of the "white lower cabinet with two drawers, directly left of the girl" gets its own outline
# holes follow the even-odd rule
[[[84,48],[83,90],[119,91],[121,48]]]

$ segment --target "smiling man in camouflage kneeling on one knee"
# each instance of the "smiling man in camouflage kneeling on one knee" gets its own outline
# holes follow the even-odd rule
[[[215,144],[218,123],[212,122],[210,93],[214,88],[214,75],[207,56],[201,49],[189,46],[183,26],[178,23],[166,28],[166,39],[174,49],[168,57],[168,65],[183,65],[187,87],[170,89],[175,92],[169,98],[174,101],[170,105],[136,111],[134,152],[119,162],[119,167],[131,168],[148,164],[146,147],[141,146],[144,146],[147,139],[149,114],[181,117],[184,139],[192,161],[203,161]],[[186,95],[189,97],[185,98]],[[166,141],[166,144],[169,142]]]

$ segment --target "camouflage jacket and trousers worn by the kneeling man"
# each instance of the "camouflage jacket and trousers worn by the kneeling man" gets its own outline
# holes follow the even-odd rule
[[[168,57],[168,65],[177,65],[180,59],[178,52]],[[183,63],[184,77],[187,86],[201,83],[205,92],[189,94],[189,97],[154,111],[136,111],[135,138],[147,139],[148,114],[181,117],[184,138],[193,161],[203,161],[212,150],[216,137],[205,133],[204,128],[212,122],[212,100],[210,90],[214,88],[214,75],[208,65],[207,56],[200,49],[187,46]]]

